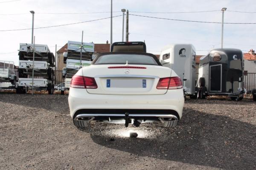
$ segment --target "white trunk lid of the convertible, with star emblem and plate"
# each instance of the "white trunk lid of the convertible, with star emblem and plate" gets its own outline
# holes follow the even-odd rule
[[[165,94],[157,89],[161,77],[171,77],[172,70],[159,65],[90,65],[83,76],[94,77],[98,88],[87,89],[90,94],[146,95]]]

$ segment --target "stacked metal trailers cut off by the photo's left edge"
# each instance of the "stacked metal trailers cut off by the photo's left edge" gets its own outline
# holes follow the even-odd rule
[[[0,89],[15,89],[17,76],[14,71],[14,62],[0,61]]]

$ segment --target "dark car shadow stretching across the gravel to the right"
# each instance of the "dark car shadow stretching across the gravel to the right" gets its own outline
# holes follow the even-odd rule
[[[256,168],[256,126],[191,109],[186,109],[179,125],[172,129],[141,125],[151,133],[145,138],[111,134],[119,125],[94,125],[83,129],[93,142],[131,156],[179,161],[223,169]],[[101,129],[99,129],[101,128]]]

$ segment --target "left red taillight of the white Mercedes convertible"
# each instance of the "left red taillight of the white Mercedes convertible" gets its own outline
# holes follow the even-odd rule
[[[84,77],[74,75],[70,82],[72,88],[98,88],[97,83],[93,77]]]

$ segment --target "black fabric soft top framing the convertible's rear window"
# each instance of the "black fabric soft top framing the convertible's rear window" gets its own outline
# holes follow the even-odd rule
[[[109,54],[134,54],[134,55],[145,55],[145,56],[150,56],[152,57],[156,62],[157,65],[161,65],[160,61],[157,59],[157,57],[154,54],[151,53],[143,53],[143,52],[108,52],[108,53],[99,53],[98,55],[96,55],[96,57],[93,59],[92,61],[92,65],[95,64],[95,62],[99,59],[99,57],[104,56],[104,55],[109,55]]]

